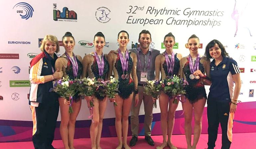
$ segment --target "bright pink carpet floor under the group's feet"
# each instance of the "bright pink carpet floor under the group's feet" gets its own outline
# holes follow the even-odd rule
[[[156,146],[162,142],[162,136],[152,136],[155,141],[155,146],[150,146],[144,140],[144,136],[139,136],[139,140],[132,149],[155,149]],[[207,148],[207,134],[201,134],[197,149]],[[128,137],[128,143],[131,137]],[[178,149],[187,149],[185,135],[173,135],[172,142],[178,147]],[[115,149],[117,146],[116,137],[101,138],[101,147],[103,149]],[[75,149],[90,149],[90,139],[82,138],[74,140]],[[57,149],[64,149],[62,140],[55,140],[53,146]],[[221,134],[218,134],[215,149],[221,148]],[[11,142],[11,143],[0,143],[0,149],[34,149],[32,142]],[[165,149],[169,149],[166,147]],[[233,143],[230,149],[256,149],[256,132],[255,133],[234,133]]]

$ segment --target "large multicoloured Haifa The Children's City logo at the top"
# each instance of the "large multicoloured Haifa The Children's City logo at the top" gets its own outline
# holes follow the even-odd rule
[[[57,4],[54,4],[54,9],[57,8]],[[59,20],[61,19],[61,20]],[[77,14],[73,10],[68,10],[67,7],[60,10],[53,10],[53,20],[54,21],[65,21],[65,22],[77,22]]]

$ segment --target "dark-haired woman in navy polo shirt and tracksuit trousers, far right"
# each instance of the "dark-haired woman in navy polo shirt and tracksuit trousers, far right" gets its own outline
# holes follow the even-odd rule
[[[236,61],[229,58],[224,46],[216,39],[207,44],[205,56],[207,59],[213,58],[210,63],[212,84],[207,100],[208,149],[215,147],[219,123],[222,130],[221,149],[229,149],[241,88],[240,70]]]

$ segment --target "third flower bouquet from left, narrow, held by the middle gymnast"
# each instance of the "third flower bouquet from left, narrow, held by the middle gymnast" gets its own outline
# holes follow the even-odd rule
[[[107,89],[105,93],[107,97],[115,98],[115,95],[118,93],[118,80],[110,76],[110,81],[107,82],[106,87]],[[115,100],[113,101],[113,103],[115,107],[118,106]]]

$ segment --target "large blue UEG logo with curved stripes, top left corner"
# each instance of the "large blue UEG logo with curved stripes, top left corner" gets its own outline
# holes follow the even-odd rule
[[[34,9],[33,7],[25,2],[20,2],[16,4],[12,9],[16,9],[17,13],[20,14],[22,19],[28,20],[29,18],[32,18]]]

